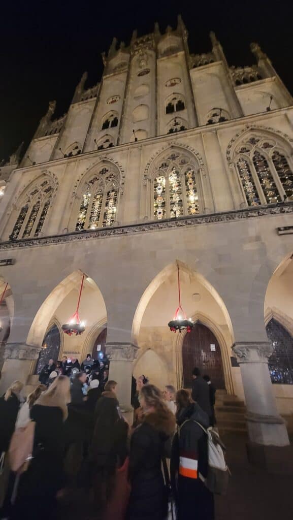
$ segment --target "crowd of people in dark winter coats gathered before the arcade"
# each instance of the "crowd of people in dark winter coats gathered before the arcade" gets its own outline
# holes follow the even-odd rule
[[[65,511],[80,517],[74,516],[80,497],[85,519],[165,520],[170,483],[177,520],[213,520],[213,494],[203,483],[208,471],[203,428],[215,424],[210,379],[195,368],[190,393],[172,385],[159,389],[145,375],[133,378],[129,424],[118,383],[109,380],[103,387],[101,371],[88,361],[78,366],[74,358],[62,359],[57,367],[49,360],[40,385],[23,404],[19,381],[0,398],[0,518],[52,520],[60,510],[62,517]],[[31,421],[29,464],[26,471],[12,472],[11,438]]]

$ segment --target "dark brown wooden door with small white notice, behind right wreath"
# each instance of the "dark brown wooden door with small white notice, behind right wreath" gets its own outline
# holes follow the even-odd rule
[[[198,367],[201,375],[208,374],[216,388],[225,388],[220,345],[208,327],[196,323],[194,329],[185,334],[182,347],[183,385],[192,386],[192,371]]]

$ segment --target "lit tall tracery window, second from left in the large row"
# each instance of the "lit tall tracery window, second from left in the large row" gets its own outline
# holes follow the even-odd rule
[[[119,172],[110,165],[100,167],[81,188],[75,231],[111,226],[116,220]]]

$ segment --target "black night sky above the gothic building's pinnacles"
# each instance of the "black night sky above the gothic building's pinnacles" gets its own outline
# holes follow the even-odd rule
[[[67,111],[83,71],[86,87],[100,79],[100,53],[113,36],[129,44],[132,30],[161,32],[176,25],[181,12],[193,53],[210,50],[209,31],[220,40],[228,63],[254,63],[250,42],[257,41],[293,93],[292,15],[289,0],[126,0],[42,2],[3,0],[0,25],[0,159],[22,140],[29,144],[48,101],[55,116]]]

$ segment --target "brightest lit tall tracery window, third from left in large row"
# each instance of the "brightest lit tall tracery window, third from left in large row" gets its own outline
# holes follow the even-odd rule
[[[198,165],[184,152],[169,151],[154,166],[152,192],[156,220],[200,213]]]

